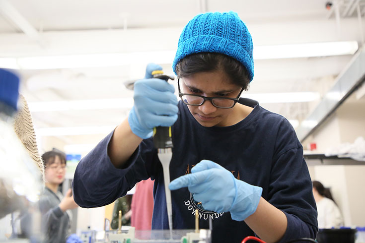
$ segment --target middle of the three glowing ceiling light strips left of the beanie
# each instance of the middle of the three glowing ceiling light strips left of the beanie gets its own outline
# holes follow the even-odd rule
[[[30,112],[131,109],[133,98],[29,102]]]

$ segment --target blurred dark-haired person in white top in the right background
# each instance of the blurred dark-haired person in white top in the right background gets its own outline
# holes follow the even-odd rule
[[[321,182],[313,181],[313,195],[317,204],[318,228],[339,228],[344,225],[340,209],[332,198],[331,190]]]

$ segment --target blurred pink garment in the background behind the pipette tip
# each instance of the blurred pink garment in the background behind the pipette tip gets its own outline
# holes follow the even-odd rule
[[[138,182],[132,196],[131,226],[136,230],[151,230],[153,212],[153,183],[151,179]]]

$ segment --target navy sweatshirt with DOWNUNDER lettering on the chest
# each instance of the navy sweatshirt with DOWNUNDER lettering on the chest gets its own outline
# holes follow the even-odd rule
[[[212,160],[236,179],[261,186],[262,197],[286,214],[288,227],[280,242],[315,238],[318,226],[312,183],[292,125],[257,101],[240,98],[239,103],[254,108],[244,120],[231,126],[204,127],[179,102],[179,117],[172,126],[170,180],[190,173],[203,159]],[[151,178],[155,180],[152,229],[168,229],[162,166],[152,138],[142,141],[126,169],[116,169],[107,154],[112,135],[79,162],[73,179],[75,202],[86,208],[107,205],[137,182]],[[188,188],[171,191],[171,197],[174,229],[194,229],[198,209],[201,228],[209,228],[209,218],[213,220],[213,243],[239,243],[255,235],[244,221],[232,220],[229,212],[205,210]]]

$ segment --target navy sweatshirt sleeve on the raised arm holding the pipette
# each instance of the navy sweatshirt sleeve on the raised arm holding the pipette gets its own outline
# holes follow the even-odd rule
[[[108,156],[107,135],[78,163],[73,177],[73,198],[84,208],[101,207],[124,196],[142,180],[153,177],[157,158],[152,139],[145,139],[127,161],[125,169],[115,168]]]

